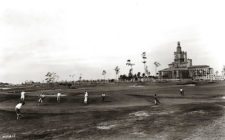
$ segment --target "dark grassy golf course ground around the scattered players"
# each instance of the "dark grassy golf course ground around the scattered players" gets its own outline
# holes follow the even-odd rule
[[[20,95],[1,92],[0,139],[225,139],[224,83],[182,86],[184,96],[180,87],[131,83],[64,89],[61,103],[57,91],[49,90],[39,106],[35,91],[27,93],[21,120],[14,111]],[[82,103],[84,90],[88,105]]]

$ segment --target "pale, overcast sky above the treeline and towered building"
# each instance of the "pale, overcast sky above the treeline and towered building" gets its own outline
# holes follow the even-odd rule
[[[194,65],[225,65],[223,0],[0,1],[0,81],[115,78],[114,68],[143,72],[142,52],[155,74],[166,68],[177,41]],[[75,75],[71,78],[69,75]]]

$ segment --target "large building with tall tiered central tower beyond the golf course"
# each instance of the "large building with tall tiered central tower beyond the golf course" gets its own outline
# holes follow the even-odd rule
[[[161,79],[212,79],[213,69],[208,65],[192,65],[192,59],[187,58],[187,52],[182,51],[180,42],[174,52],[174,62],[169,68],[159,71]]]

